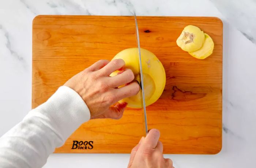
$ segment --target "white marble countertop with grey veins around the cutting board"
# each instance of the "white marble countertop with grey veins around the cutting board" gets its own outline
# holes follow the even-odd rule
[[[165,155],[176,168],[256,167],[256,1],[1,0],[0,136],[31,109],[36,15],[217,16],[223,21],[223,147],[217,155]],[[50,167],[127,167],[126,154],[52,154]]]

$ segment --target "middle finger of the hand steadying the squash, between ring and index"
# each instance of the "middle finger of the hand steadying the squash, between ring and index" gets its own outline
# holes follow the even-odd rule
[[[112,88],[130,83],[134,79],[134,74],[131,69],[125,69],[116,76],[109,77],[108,84]]]

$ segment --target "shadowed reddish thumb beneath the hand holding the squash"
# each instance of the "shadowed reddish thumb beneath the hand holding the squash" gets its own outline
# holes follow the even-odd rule
[[[103,114],[93,117],[92,119],[120,119],[123,116],[126,102],[117,103],[114,107],[109,107]]]

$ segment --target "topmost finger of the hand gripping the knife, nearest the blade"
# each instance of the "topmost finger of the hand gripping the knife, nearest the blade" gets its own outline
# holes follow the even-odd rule
[[[145,139],[143,140],[143,148],[154,149],[157,146],[160,137],[160,132],[158,129],[151,129]]]

